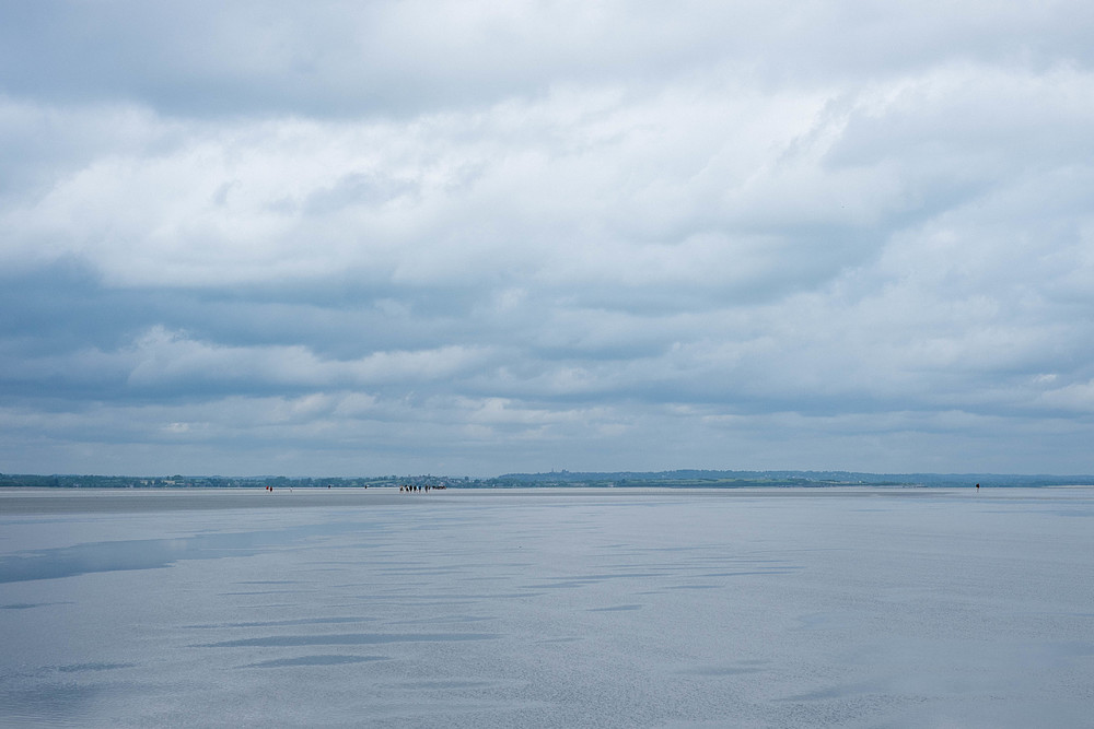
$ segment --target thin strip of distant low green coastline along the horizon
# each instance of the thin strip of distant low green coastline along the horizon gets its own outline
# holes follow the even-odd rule
[[[447,489],[529,487],[660,487],[756,489],[889,486],[901,489],[1041,487],[1094,485],[1094,475],[998,473],[863,473],[853,471],[615,471],[507,473],[488,479],[451,475],[379,475],[356,478],[289,478],[283,475],[75,475],[0,473],[0,487],[37,489],[365,489],[431,485]]]

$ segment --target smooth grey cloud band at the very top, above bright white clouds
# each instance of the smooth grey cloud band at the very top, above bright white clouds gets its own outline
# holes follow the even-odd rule
[[[938,60],[1090,66],[1086,3],[40,2],[7,5],[0,85],[183,115],[406,115],[559,83],[744,68],[814,84]]]

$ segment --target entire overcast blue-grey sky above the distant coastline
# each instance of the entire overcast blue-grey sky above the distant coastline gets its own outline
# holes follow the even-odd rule
[[[0,471],[1092,446],[1090,0],[0,4]]]

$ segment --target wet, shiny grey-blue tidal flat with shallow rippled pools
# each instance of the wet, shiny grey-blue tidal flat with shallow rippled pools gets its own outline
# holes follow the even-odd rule
[[[1094,726],[1094,490],[0,492],[0,725]]]

